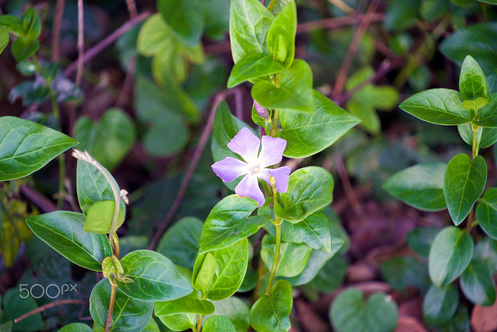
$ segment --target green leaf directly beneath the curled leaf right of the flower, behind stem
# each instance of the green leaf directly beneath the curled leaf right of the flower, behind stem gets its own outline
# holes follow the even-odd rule
[[[266,224],[264,229],[272,236],[275,236],[276,228],[272,223]],[[332,242],[333,249],[336,250],[339,249],[336,247],[343,245],[343,240],[331,237],[330,223],[326,215],[321,211],[314,212],[297,224],[283,221],[281,225],[281,241],[305,244],[310,248],[326,252],[331,252]]]

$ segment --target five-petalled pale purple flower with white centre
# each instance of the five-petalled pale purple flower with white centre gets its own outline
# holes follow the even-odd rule
[[[257,156],[261,141],[262,149]],[[271,185],[269,178],[274,176],[278,192],[286,192],[288,190],[288,177],[291,170],[288,166],[266,168],[281,161],[283,151],[285,151],[286,147],[284,139],[262,136],[261,141],[247,127],[244,127],[228,143],[228,148],[242,156],[245,162],[232,157],[226,157],[212,165],[212,170],[224,182],[233,181],[237,177],[247,174],[236,186],[235,192],[240,196],[248,196],[254,201],[257,201],[259,206],[264,204],[265,198],[257,183],[257,177],[260,177]]]

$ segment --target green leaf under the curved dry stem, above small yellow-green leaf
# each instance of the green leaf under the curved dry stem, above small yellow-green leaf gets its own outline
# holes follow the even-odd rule
[[[119,185],[116,180],[110,174],[110,172],[104,167],[107,175],[110,176],[114,186],[118,191]],[[111,200],[114,202],[114,193],[112,192],[112,187],[107,181],[105,175],[94,165],[85,162],[83,160],[78,160],[76,166],[76,189],[78,192],[78,202],[82,208],[83,213],[87,212],[85,207],[93,204],[94,202]],[[123,216],[126,214],[126,204],[124,200],[120,200],[119,206],[122,210]],[[112,210],[112,213],[114,210]]]

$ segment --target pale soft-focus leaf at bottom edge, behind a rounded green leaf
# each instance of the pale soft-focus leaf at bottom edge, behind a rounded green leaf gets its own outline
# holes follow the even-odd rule
[[[235,326],[237,332],[247,332],[248,323],[248,306],[236,296],[230,296],[221,301],[213,301],[216,310],[214,314],[204,316],[204,322],[211,316],[223,316],[230,320]]]

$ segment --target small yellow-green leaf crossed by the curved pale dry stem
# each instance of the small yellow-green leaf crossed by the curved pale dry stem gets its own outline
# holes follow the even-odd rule
[[[83,230],[89,233],[109,233],[112,219],[114,218],[115,202],[112,200],[98,201],[92,204],[86,212]],[[116,230],[124,223],[123,210],[119,209]]]

